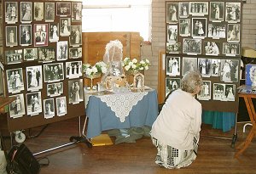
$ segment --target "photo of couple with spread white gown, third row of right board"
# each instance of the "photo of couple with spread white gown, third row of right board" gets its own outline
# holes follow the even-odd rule
[[[206,55],[218,56],[221,51],[221,42],[204,41],[203,53]]]

